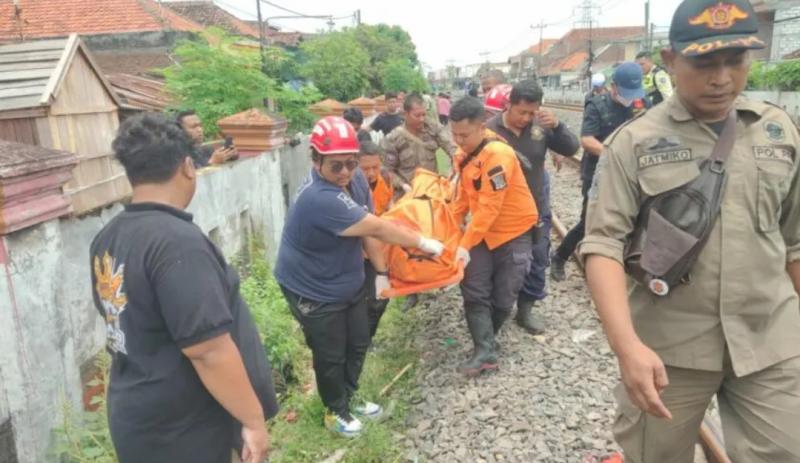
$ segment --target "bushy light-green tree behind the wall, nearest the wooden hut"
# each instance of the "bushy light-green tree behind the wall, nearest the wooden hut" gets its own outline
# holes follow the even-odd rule
[[[180,64],[164,70],[167,90],[180,106],[197,112],[208,137],[219,133],[219,119],[261,107],[276,93],[275,81],[261,71],[258,51],[232,47],[234,41],[209,29],[201,39],[178,45]]]

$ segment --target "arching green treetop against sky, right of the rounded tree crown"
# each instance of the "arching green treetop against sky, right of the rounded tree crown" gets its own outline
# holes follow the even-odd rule
[[[417,50],[411,35],[400,26],[387,24],[362,24],[349,32],[369,53],[369,83],[377,92],[388,89],[383,87],[385,66],[394,59],[403,59],[412,66],[418,64]]]

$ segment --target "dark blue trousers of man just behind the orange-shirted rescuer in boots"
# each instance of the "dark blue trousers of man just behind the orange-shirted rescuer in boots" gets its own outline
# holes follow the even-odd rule
[[[533,243],[531,268],[519,293],[521,299],[529,301],[541,301],[547,297],[545,274],[547,267],[550,266],[550,229],[553,226],[553,214],[550,210],[550,174],[547,171],[544,172],[542,197],[536,207],[539,209],[536,233],[538,237]]]

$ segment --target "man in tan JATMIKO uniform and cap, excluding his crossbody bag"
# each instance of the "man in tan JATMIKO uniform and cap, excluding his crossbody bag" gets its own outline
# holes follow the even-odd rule
[[[676,93],[606,140],[589,192],[579,252],[619,360],[626,462],[692,462],[714,395],[733,462],[800,462],[800,135],[740,97],[757,33],[747,0],[681,3],[662,51]],[[731,111],[727,186],[691,278],[665,296],[626,284],[643,201],[698,177]]]

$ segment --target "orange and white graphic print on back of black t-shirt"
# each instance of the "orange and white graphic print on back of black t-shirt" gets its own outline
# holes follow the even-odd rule
[[[94,276],[97,280],[95,291],[106,317],[106,343],[111,352],[127,355],[125,350],[125,333],[119,324],[119,317],[128,304],[128,297],[123,291],[125,265],[117,265],[117,260],[108,251],[103,254],[102,261],[94,256]]]

